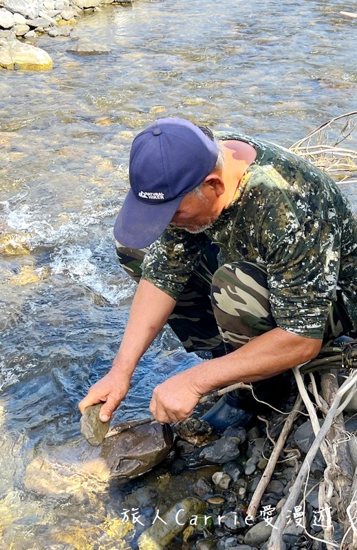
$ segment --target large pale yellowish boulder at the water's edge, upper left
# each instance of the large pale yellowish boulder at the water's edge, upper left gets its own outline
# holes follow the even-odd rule
[[[53,63],[45,50],[8,37],[0,42],[0,67],[11,70],[47,71],[52,69]]]

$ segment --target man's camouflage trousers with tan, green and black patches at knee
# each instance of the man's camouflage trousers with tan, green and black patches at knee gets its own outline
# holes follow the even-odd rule
[[[116,243],[120,264],[135,281],[140,280],[140,262],[147,249],[133,250]],[[270,310],[266,269],[248,262],[226,264],[217,269],[219,248],[207,240],[204,253],[177,300],[169,325],[186,351],[212,351],[224,355],[265,333],[277,324]],[[349,318],[331,307],[325,339],[340,336]]]

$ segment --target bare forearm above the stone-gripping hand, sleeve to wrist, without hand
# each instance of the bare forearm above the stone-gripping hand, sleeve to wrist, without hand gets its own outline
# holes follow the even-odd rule
[[[175,300],[149,281],[140,281],[129,321],[112,369],[131,375],[136,364],[158,336],[175,307]]]

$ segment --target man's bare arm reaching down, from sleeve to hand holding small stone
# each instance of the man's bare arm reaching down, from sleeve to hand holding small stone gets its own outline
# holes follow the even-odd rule
[[[100,401],[100,419],[107,421],[129,391],[131,375],[151,342],[164,327],[175,300],[149,281],[140,281],[131,305],[129,321],[111,370],[80,401],[80,412]]]

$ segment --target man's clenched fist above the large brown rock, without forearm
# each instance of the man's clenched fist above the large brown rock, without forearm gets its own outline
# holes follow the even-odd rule
[[[178,422],[193,413],[201,395],[188,370],[155,387],[150,411],[158,422]]]

